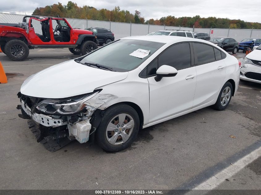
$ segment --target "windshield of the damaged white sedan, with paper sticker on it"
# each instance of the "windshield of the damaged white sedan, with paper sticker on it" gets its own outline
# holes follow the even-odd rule
[[[109,67],[112,71],[126,72],[138,67],[164,44],[153,41],[120,39],[76,60],[80,63]],[[149,55],[142,59],[130,55],[138,49],[150,51]]]

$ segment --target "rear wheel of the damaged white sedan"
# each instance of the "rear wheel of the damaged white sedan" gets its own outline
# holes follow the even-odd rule
[[[233,93],[233,87],[230,82],[226,82],[225,85],[222,87],[216,103],[213,105],[215,110],[225,110],[228,107],[228,104],[231,100]]]

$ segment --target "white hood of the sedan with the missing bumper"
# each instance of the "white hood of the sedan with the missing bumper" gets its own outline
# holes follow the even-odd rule
[[[107,71],[70,60],[28,77],[21,86],[21,93],[40,98],[66,98],[93,92],[127,75],[128,72]]]

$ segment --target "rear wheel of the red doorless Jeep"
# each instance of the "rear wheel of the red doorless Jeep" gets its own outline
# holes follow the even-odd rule
[[[14,61],[22,61],[28,57],[29,48],[23,41],[14,39],[6,43],[5,53]]]

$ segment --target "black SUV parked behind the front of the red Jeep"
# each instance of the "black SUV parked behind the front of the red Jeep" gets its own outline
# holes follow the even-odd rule
[[[114,34],[111,30],[106,28],[86,28],[85,30],[90,30],[97,36],[99,45],[103,45],[103,43],[108,44],[114,41]]]

